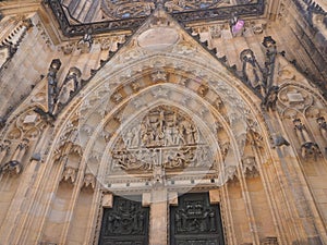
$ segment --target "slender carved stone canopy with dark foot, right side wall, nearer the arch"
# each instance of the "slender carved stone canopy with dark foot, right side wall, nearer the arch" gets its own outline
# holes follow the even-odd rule
[[[311,139],[305,125],[300,119],[294,119],[293,123],[296,137],[301,144],[301,156],[305,159],[313,156],[316,160],[320,154],[318,145]]]

